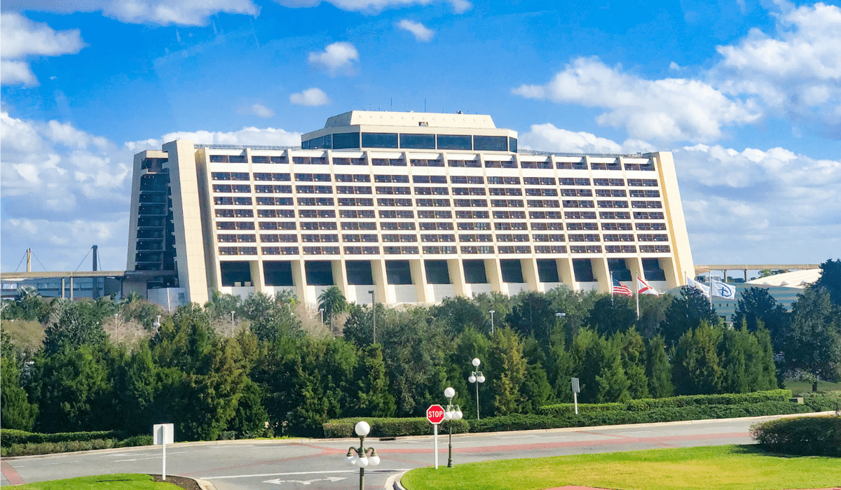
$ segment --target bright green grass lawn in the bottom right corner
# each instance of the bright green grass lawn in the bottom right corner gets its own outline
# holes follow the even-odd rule
[[[420,468],[401,481],[408,490],[825,488],[841,484],[841,458],[780,456],[751,445],[717,445]]]

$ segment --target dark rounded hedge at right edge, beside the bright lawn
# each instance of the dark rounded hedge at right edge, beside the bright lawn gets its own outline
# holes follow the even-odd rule
[[[798,456],[841,456],[841,416],[796,417],[754,424],[750,435],[770,451]]]

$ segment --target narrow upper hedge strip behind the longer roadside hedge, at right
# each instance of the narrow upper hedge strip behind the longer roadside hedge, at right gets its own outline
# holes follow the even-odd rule
[[[654,408],[681,408],[696,405],[733,405],[741,403],[762,403],[773,401],[787,401],[791,398],[791,390],[768,390],[754,393],[722,393],[718,395],[684,395],[669,398],[643,398],[630,400],[625,403],[579,403],[579,413],[584,412],[613,412],[625,410],[629,412],[644,412]],[[545,415],[565,415],[574,413],[573,403],[558,403],[540,408]]]

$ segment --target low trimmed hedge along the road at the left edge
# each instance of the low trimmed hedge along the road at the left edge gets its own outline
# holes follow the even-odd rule
[[[72,452],[77,450],[110,449],[151,445],[151,435],[133,435],[126,438],[120,430],[98,432],[60,432],[40,434],[25,430],[0,429],[0,456],[32,456]]]

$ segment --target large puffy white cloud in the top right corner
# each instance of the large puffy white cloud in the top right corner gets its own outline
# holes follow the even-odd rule
[[[776,32],[751,29],[711,71],[722,90],[757,96],[770,111],[802,121],[817,119],[841,138],[841,8],[778,3]]]

